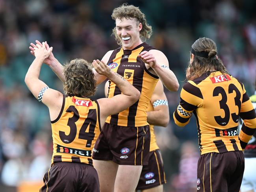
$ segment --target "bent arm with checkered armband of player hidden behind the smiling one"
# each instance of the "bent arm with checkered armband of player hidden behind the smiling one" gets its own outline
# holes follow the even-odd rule
[[[153,111],[148,111],[147,121],[151,125],[166,127],[170,120],[168,101],[164,94],[164,87],[159,80],[155,86],[155,90],[151,96],[151,104],[154,107]]]

